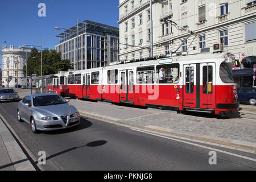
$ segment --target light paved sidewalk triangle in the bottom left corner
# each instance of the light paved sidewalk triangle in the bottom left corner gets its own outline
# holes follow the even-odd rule
[[[35,171],[0,118],[0,171]]]

